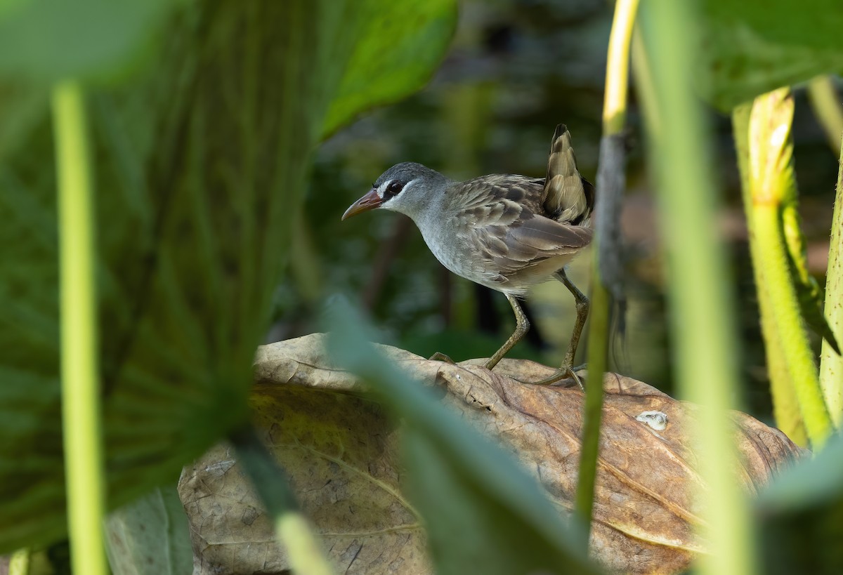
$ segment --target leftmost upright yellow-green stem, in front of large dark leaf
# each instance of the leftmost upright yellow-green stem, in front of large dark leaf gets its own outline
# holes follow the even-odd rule
[[[105,575],[105,476],[99,401],[94,192],[78,82],[53,89],[62,309],[62,429],[73,572]]]

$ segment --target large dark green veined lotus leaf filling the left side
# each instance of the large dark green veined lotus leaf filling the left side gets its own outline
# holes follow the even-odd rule
[[[89,100],[111,508],[175,479],[247,419],[310,152],[366,15],[390,5],[191,3],[166,25],[154,70]],[[447,38],[429,46],[419,19],[402,22],[401,45],[442,53]],[[115,47],[94,40],[93,60]],[[19,35],[0,46],[27,48]],[[55,72],[49,58],[35,64]],[[66,529],[49,127],[41,110],[0,165],[0,552]]]

